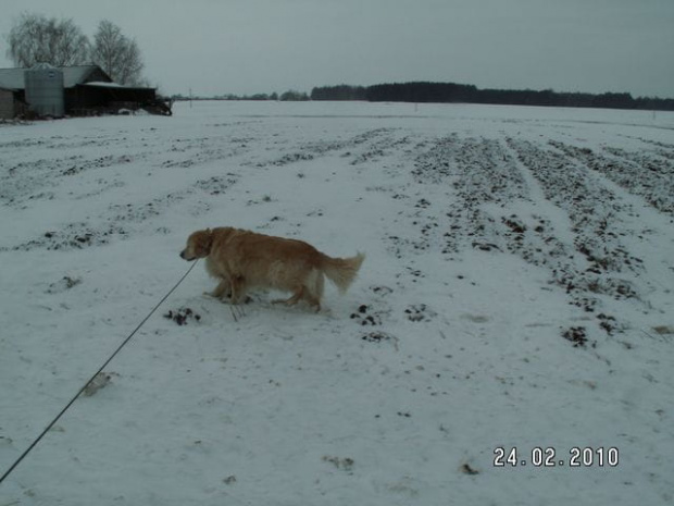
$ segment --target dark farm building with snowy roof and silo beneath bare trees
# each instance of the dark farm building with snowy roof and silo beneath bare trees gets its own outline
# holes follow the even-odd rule
[[[121,86],[98,65],[0,69],[0,119],[115,113],[146,109],[170,114],[154,88]]]

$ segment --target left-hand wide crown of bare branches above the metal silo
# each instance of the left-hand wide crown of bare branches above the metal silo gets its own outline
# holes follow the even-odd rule
[[[7,36],[8,57],[16,66],[50,63],[54,66],[84,64],[89,39],[73,20],[23,13]]]

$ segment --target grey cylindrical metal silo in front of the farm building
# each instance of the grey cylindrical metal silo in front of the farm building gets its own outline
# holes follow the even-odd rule
[[[64,110],[63,72],[48,63],[25,71],[26,102],[40,116],[62,116]]]

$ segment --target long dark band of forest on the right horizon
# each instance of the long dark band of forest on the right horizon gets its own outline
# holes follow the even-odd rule
[[[366,100],[371,102],[488,103],[674,111],[674,99],[633,98],[631,94],[558,92],[551,89],[478,89],[454,83],[401,83],[374,86],[313,88],[312,100]]]

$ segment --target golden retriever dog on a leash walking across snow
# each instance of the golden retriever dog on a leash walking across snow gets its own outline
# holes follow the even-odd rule
[[[205,258],[207,271],[220,280],[207,295],[222,300],[229,296],[232,304],[239,304],[249,288],[274,288],[292,293],[274,303],[291,306],[305,300],[320,311],[324,274],[344,294],[365,256],[330,258],[303,240],[224,226],[192,233],[180,258]]]

